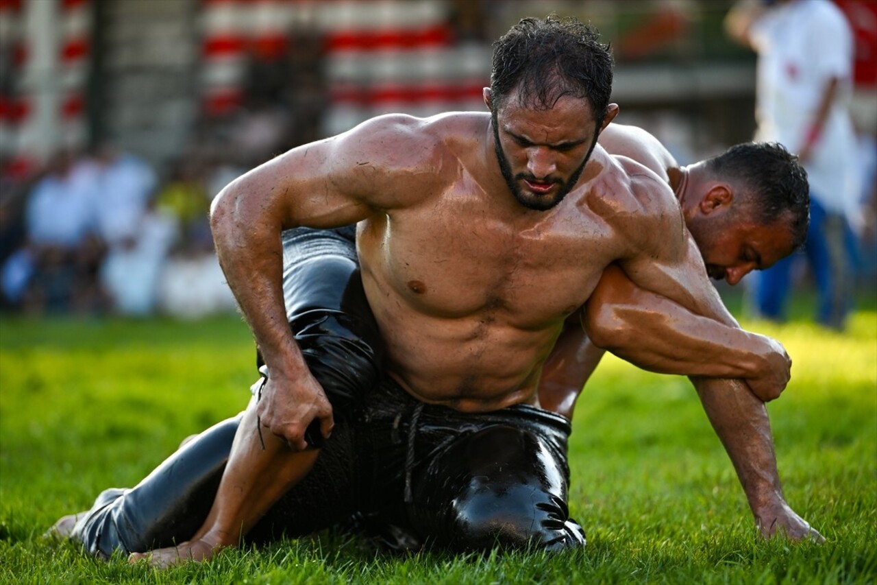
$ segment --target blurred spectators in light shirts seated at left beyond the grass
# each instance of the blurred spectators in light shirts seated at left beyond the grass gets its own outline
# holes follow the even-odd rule
[[[0,211],[4,307],[27,313],[197,316],[233,307],[212,254],[209,170],[165,177],[103,145],[63,151],[38,176],[5,179]]]

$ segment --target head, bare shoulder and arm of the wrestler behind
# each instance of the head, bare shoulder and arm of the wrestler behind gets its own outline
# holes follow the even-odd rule
[[[788,256],[807,234],[806,172],[779,144],[738,144],[687,167],[636,126],[611,124],[599,144],[667,181],[711,278],[736,285],[750,271]],[[607,349],[652,372],[744,378],[763,398],[781,383],[776,376],[786,374],[777,359],[781,351],[756,353],[758,345],[746,339],[751,333],[725,328],[633,285],[617,265],[604,271],[588,307],[588,329],[599,343],[577,321],[567,323],[539,382],[542,407],[567,418]]]

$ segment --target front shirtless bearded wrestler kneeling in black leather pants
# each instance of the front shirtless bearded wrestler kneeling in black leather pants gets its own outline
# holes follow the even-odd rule
[[[270,376],[207,521],[153,562],[208,558],[268,509],[269,528],[288,533],[390,506],[456,549],[584,544],[567,515],[568,423],[534,408],[564,322],[617,262],[634,285],[736,327],[667,183],[595,146],[617,113],[610,82],[592,32],[524,19],[496,46],[489,115],[383,116],[220,193],[217,253]],[[333,413],[289,331],[280,235],[358,221],[361,284],[386,356],[356,408]],[[731,381],[699,393],[753,509],[808,533],[782,499],[762,401]],[[318,451],[304,438],[314,420],[327,437]]]

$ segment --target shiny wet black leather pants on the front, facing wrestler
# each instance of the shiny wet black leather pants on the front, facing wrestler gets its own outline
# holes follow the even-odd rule
[[[367,400],[360,522],[392,548],[458,551],[585,544],[568,515],[566,418],[517,405],[468,414],[385,379]]]

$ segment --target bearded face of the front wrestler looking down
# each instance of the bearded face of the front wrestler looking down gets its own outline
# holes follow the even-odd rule
[[[561,97],[552,109],[538,111],[511,99],[492,120],[496,158],[518,203],[537,211],[559,204],[596,144],[588,100]]]

